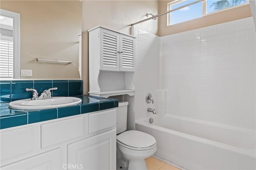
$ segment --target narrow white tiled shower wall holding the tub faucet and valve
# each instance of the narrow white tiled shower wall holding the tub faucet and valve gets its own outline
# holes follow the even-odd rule
[[[159,51],[160,38],[150,34],[145,30],[134,27],[134,36],[136,37],[136,70],[134,73],[135,86],[135,120],[148,117],[147,108],[156,109],[154,104],[146,103],[146,94],[152,93],[156,100],[156,89],[159,89]]]

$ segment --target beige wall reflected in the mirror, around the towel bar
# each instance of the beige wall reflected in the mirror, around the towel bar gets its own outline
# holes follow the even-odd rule
[[[20,69],[33,77],[76,79],[78,34],[82,31],[82,5],[78,0],[1,0],[1,9],[20,13]],[[35,58],[64,59],[72,64],[36,63]]]

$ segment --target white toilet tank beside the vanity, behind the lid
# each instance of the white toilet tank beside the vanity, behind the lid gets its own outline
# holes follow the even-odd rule
[[[116,134],[122,133],[127,128],[127,107],[128,101],[118,102],[116,108]]]

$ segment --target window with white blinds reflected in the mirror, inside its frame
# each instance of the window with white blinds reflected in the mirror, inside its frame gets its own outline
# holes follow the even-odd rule
[[[0,15],[0,77],[13,78],[13,18]]]

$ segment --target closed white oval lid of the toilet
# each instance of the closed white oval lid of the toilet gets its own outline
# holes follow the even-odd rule
[[[156,143],[156,139],[150,134],[140,132],[138,130],[128,130],[119,134],[116,139],[134,148],[146,148]]]

